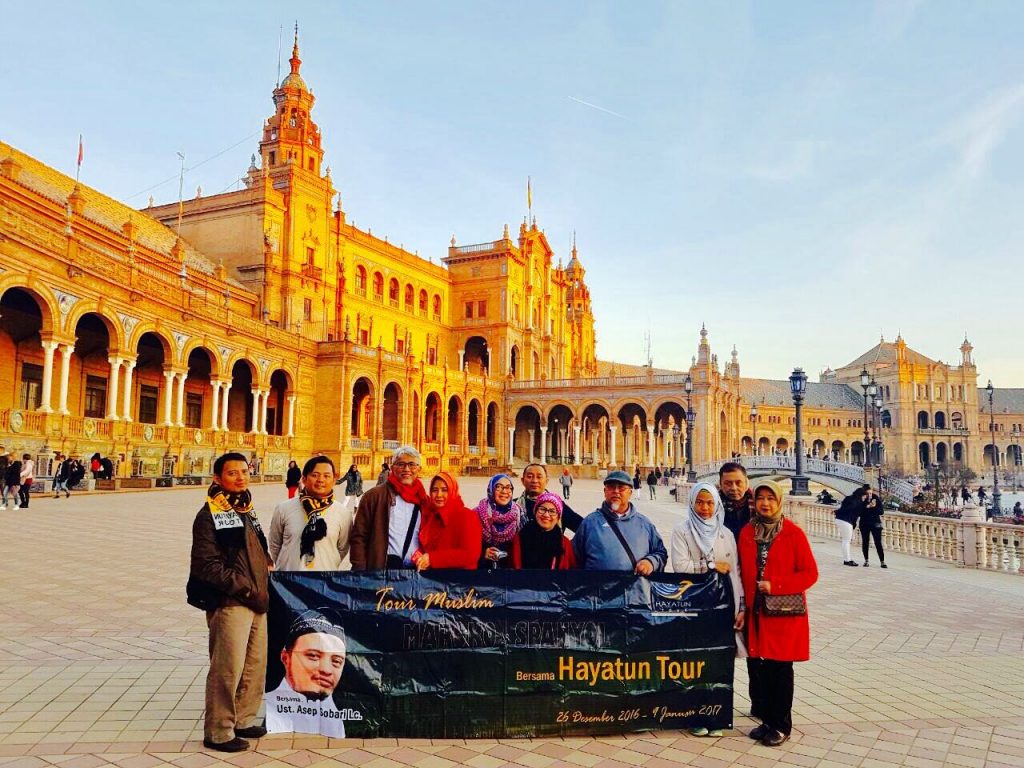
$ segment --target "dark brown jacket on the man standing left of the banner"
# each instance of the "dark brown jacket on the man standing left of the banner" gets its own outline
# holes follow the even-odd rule
[[[270,605],[270,554],[263,548],[249,515],[240,517],[244,525],[238,541],[223,531],[218,541],[210,508],[204,504],[196,515],[186,588],[189,604],[206,610],[245,605],[257,613],[266,613]]]

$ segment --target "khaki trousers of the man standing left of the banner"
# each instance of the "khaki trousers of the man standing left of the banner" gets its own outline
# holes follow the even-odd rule
[[[259,724],[266,680],[266,613],[244,605],[208,611],[210,672],[204,736],[230,741],[236,728]]]

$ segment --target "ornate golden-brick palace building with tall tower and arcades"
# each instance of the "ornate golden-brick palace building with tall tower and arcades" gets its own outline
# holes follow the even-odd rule
[[[402,442],[428,470],[678,466],[688,403],[694,462],[796,450],[788,383],[720,366],[705,329],[685,372],[599,361],[575,245],[563,265],[536,220],[443,266],[349,223],[300,67],[296,42],[238,191],[136,211],[0,141],[0,442],[40,475],[98,452],[198,476],[227,449],[371,472]],[[993,399],[1019,465],[1024,390]],[[808,385],[803,449],[980,470],[985,408],[967,340],[957,366],[883,340]]]

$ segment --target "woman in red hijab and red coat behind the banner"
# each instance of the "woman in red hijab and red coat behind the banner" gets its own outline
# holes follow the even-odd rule
[[[459,483],[447,472],[430,480],[430,501],[423,508],[420,548],[413,553],[417,570],[475,568],[483,530],[480,518],[466,509]]]

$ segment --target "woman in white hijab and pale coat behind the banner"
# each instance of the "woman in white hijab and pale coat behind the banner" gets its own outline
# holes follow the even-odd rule
[[[707,573],[714,569],[729,577],[735,599],[733,627],[737,633],[743,628],[745,604],[743,584],[739,580],[739,556],[732,531],[724,525],[725,507],[718,488],[708,482],[698,482],[690,488],[689,506],[683,519],[672,531],[672,569],[677,573]],[[736,655],[746,655],[737,634]],[[721,736],[722,731],[693,728],[694,736]]]

